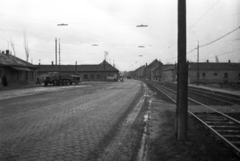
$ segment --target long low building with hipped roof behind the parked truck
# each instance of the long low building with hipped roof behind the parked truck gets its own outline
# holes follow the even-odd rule
[[[81,81],[104,81],[109,77],[118,77],[119,70],[105,60],[100,64],[91,65],[35,65],[38,76],[44,77],[49,72],[61,72],[79,75]]]

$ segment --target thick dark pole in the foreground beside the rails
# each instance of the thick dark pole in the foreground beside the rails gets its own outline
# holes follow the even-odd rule
[[[178,140],[187,140],[188,117],[188,63],[186,62],[186,0],[178,0],[178,89],[177,128]]]

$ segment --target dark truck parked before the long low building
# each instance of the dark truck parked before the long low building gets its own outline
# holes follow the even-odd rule
[[[60,74],[58,72],[50,72],[47,74],[44,80],[44,85],[52,84],[54,86],[58,85],[71,85],[79,84],[81,82],[80,76],[72,74]]]

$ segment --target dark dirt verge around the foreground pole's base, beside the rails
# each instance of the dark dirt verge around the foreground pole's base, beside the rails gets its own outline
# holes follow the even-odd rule
[[[153,99],[149,121],[147,161],[237,161],[239,157],[193,117],[188,117],[188,140],[174,134],[175,105]]]

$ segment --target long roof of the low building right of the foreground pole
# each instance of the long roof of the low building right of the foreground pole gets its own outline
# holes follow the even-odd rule
[[[189,63],[189,70],[197,70],[198,63]],[[240,70],[240,63],[199,63],[200,70]]]

